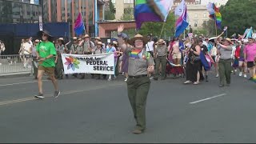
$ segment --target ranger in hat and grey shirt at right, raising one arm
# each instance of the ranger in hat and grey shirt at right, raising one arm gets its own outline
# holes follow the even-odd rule
[[[224,81],[226,79],[226,86],[230,86],[231,79],[231,54],[232,54],[232,45],[230,38],[223,40],[223,44],[217,41],[218,45],[218,54],[220,55],[218,61],[218,74],[220,79],[219,87],[224,86]]]

